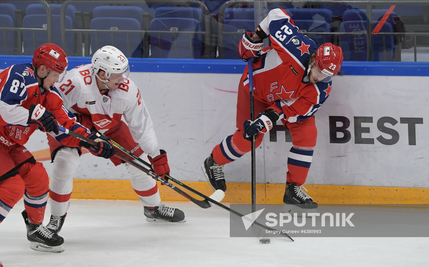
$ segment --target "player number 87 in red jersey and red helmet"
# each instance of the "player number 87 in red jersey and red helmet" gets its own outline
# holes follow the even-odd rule
[[[62,252],[64,240],[42,224],[48,199],[48,174],[24,147],[30,135],[40,129],[64,145],[83,145],[104,158],[115,154],[112,144],[76,123],[76,117],[64,108],[60,94],[52,86],[62,80],[67,65],[64,51],[48,43],[36,49],[33,63],[12,65],[0,72],[0,222],[24,195],[22,216],[27,225],[27,239],[30,247],[39,251]],[[61,134],[58,124],[99,141],[99,146]]]

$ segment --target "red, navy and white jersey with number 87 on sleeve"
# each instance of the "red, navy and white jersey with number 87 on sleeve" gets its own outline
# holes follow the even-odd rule
[[[63,106],[57,88],[51,86],[46,90],[39,86],[33,65],[25,63],[12,65],[0,72],[0,142],[3,145],[23,145],[38,129],[35,124],[27,124],[32,104],[44,106],[64,128],[81,135],[89,134],[88,129],[77,123],[76,117]],[[64,133],[49,134],[66,146],[79,146],[79,139]]]

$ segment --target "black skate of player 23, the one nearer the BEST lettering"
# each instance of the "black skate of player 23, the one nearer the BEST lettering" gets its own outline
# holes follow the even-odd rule
[[[303,216],[302,213],[314,213],[317,208],[317,203],[314,202],[307,193],[302,189],[307,189],[304,186],[296,186],[295,183],[286,183],[286,190],[283,196],[284,208],[283,212]],[[307,215],[305,215],[308,217]]]

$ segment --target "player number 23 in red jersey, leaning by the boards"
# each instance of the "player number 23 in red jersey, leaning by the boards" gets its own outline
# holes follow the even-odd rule
[[[271,46],[262,49],[263,39]],[[248,69],[242,75],[237,100],[237,130],[215,146],[202,170],[211,186],[226,191],[223,165],[251,150],[250,136],[258,147],[264,133],[281,120],[289,129],[293,147],[287,158],[285,204],[314,209],[317,203],[303,191],[310,168],[317,129],[314,113],[331,93],[332,79],[341,75],[340,47],[313,40],[299,32],[283,9],[273,9],[252,35],[247,31],[239,42],[243,60],[253,61],[254,122],[250,117]]]

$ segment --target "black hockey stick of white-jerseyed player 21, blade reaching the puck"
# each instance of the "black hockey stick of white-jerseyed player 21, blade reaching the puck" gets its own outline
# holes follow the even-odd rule
[[[60,131],[61,131],[61,129],[60,129]],[[84,141],[85,141],[85,140],[84,140]],[[124,147],[122,147],[120,144],[116,143],[116,142],[115,142],[115,141],[113,141],[112,139],[110,139],[110,142],[111,142],[115,147],[117,147],[119,150],[123,151],[124,153],[127,153],[127,155],[132,156],[134,159],[138,160],[139,162],[142,162],[144,165],[146,165],[146,166],[148,166],[148,167],[150,167],[150,168],[151,168],[151,165],[150,165],[148,162],[146,162],[145,160],[143,160],[143,159],[139,158],[138,156],[134,155],[134,154],[133,154],[133,153],[131,153],[129,150],[127,150],[127,149],[125,149]],[[224,204],[221,204],[219,201],[215,201],[215,200],[213,200],[212,198],[210,198],[210,197],[208,197],[208,196],[206,196],[206,195],[202,194],[201,192],[196,191],[196,190],[195,190],[195,189],[193,189],[192,187],[185,185],[184,183],[182,183],[182,182],[181,182],[181,181],[179,181],[179,180],[176,180],[175,178],[171,177],[170,175],[166,174],[165,176],[166,176],[169,180],[172,180],[174,183],[177,183],[178,185],[182,186],[183,188],[188,189],[190,192],[193,192],[193,193],[195,193],[196,195],[199,195],[200,197],[205,198],[207,201],[210,201],[211,203],[213,203],[213,204],[215,204],[215,205],[217,205],[217,206],[219,206],[219,207],[221,207],[221,208],[223,208],[223,209],[225,209],[225,210],[228,210],[229,212],[234,213],[234,214],[235,214],[235,215],[237,215],[237,216],[240,216],[240,217],[243,217],[243,216],[244,216],[243,214],[239,213],[238,211],[236,211],[236,210],[232,210],[230,207],[227,207],[227,206],[225,206]],[[216,193],[216,192],[215,192],[215,193]],[[213,193],[213,195],[215,195],[215,193]],[[211,196],[213,196],[213,195],[211,195]],[[254,212],[254,211],[252,211],[252,212]],[[266,226],[266,225],[260,224],[259,222],[256,222],[256,221],[255,221],[253,224],[254,224],[254,225],[258,225],[259,227],[264,228],[264,229],[269,230],[269,231],[274,230],[273,228],[270,228],[270,227],[268,227],[268,226]],[[281,233],[281,235],[283,235],[284,237],[288,237],[290,240],[292,240],[292,241],[293,241],[293,239],[292,239],[288,234],[286,234],[286,233]]]

